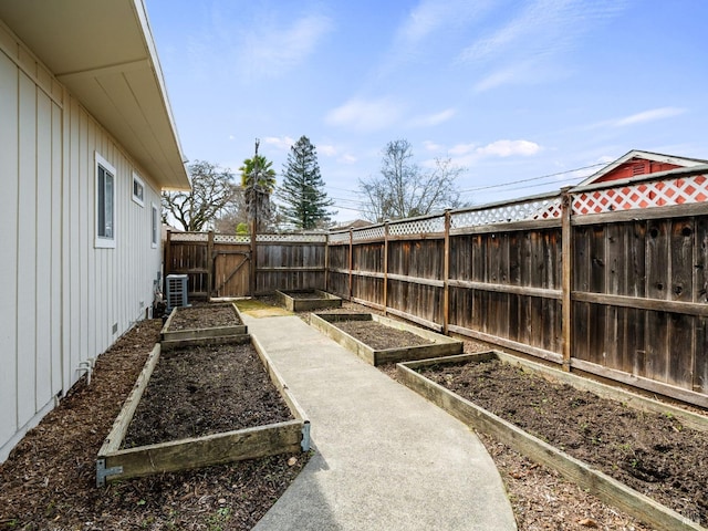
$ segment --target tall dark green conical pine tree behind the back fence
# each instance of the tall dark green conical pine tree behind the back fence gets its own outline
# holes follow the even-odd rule
[[[334,212],[330,212],[327,207],[333,201],[324,191],[317,154],[306,136],[301,136],[290,148],[283,168],[283,183],[277,196],[284,204],[282,214],[285,219],[303,230],[329,222]]]

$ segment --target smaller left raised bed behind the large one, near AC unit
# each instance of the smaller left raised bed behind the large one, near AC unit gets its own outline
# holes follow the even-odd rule
[[[248,341],[248,329],[232,303],[175,308],[160,332],[163,351]]]

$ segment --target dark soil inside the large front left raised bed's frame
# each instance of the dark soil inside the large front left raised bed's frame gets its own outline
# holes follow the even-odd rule
[[[128,426],[124,447],[293,418],[252,345],[179,348],[160,356]]]

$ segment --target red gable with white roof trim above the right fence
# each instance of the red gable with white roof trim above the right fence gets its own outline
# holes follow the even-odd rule
[[[668,171],[669,169],[676,168],[691,168],[694,166],[702,166],[705,164],[708,164],[708,160],[633,149],[616,159],[614,163],[610,163],[600,171],[594,173],[577,186],[581,187],[598,183],[608,183],[611,180],[631,179],[633,177],[639,178],[658,171]]]

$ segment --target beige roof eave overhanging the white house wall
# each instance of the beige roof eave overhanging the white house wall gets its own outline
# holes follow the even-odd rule
[[[163,189],[190,188],[143,0],[0,2],[0,19],[145,177]]]

